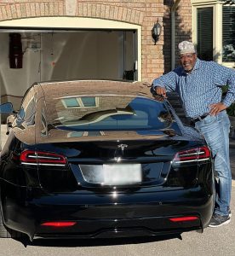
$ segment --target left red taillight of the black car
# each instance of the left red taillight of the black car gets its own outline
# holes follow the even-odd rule
[[[25,150],[20,154],[23,165],[65,166],[66,158],[61,154],[50,152]]]

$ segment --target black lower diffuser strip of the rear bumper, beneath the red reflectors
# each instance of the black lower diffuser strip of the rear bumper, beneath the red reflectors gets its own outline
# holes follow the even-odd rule
[[[200,218],[193,223],[172,224],[169,218],[131,218],[78,220],[72,228],[45,228],[38,226],[34,238],[116,238],[136,236],[163,236],[203,230]]]

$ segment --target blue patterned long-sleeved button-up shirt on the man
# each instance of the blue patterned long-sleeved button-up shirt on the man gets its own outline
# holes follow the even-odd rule
[[[214,61],[197,59],[191,73],[183,67],[164,74],[152,82],[156,86],[165,87],[167,91],[176,91],[181,96],[186,116],[195,118],[209,113],[209,105],[223,102],[226,107],[235,100],[235,71],[223,67]],[[224,99],[221,99],[221,87],[228,86]]]

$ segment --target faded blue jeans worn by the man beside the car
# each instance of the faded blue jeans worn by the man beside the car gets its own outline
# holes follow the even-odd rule
[[[205,138],[209,145],[217,173],[215,186],[215,213],[228,215],[231,200],[232,173],[229,160],[230,120],[226,110],[215,116],[208,115],[202,121],[195,123],[195,128]]]

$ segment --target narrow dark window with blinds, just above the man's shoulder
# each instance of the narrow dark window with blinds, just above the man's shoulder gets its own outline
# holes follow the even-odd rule
[[[198,57],[204,61],[213,60],[213,7],[197,9]]]

